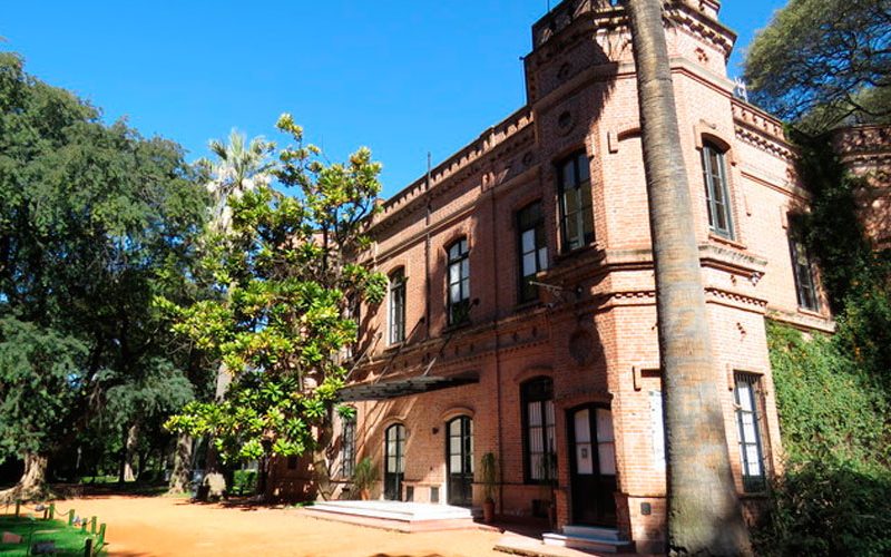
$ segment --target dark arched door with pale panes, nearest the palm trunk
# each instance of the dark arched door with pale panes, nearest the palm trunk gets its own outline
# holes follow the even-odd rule
[[[616,526],[616,449],[613,413],[587,404],[569,411],[572,524]]]

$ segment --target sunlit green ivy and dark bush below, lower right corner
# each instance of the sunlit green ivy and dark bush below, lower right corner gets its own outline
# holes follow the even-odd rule
[[[891,520],[891,391],[887,344],[889,296],[846,297],[832,338],[768,325],[785,471],[772,490],[768,519],[756,532],[764,555],[887,555]],[[863,309],[881,309],[877,312]],[[885,328],[883,332],[877,328]]]

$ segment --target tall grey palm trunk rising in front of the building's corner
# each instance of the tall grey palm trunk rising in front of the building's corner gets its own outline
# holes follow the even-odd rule
[[[748,555],[712,359],[660,0],[623,0],[637,66],[668,461],[668,551]]]

